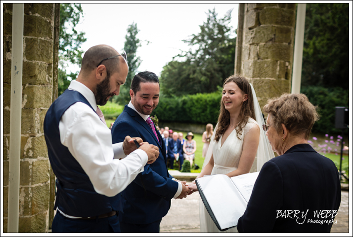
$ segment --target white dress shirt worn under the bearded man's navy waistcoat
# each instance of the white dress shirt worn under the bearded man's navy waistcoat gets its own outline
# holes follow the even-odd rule
[[[93,92],[84,84],[73,80],[68,89],[80,92],[92,108],[97,108]],[[108,197],[122,192],[148,161],[146,152],[141,149],[126,156],[123,142],[112,144],[110,129],[83,102],[74,103],[64,112],[59,132],[61,143],[87,173],[94,190]]]

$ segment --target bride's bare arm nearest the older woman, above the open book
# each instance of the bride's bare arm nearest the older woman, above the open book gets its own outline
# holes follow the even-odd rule
[[[240,174],[249,173],[258,151],[260,141],[260,128],[253,126],[244,136],[243,151],[240,156],[238,169],[227,173],[229,177],[238,176]]]

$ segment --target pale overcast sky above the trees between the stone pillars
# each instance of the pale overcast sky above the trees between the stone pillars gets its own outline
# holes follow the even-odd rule
[[[82,3],[84,17],[77,27],[86,33],[82,49],[97,44],[108,44],[119,52],[124,47],[127,28],[137,23],[142,41],[137,56],[142,60],[138,71],[149,70],[157,75],[166,63],[189,46],[181,40],[200,32],[199,25],[206,21],[205,12],[216,8],[218,18],[233,8],[232,30],[238,25],[238,3]],[[233,34],[235,35],[235,33]],[[146,41],[150,43],[147,45]],[[79,68],[77,68],[79,70]]]

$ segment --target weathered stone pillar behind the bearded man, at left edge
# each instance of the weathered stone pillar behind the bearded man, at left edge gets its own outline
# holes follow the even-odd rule
[[[19,232],[47,232],[50,164],[44,116],[52,102],[54,4],[24,4]],[[12,4],[3,3],[3,229],[7,232]],[[57,72],[56,72],[57,73]]]

